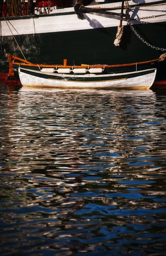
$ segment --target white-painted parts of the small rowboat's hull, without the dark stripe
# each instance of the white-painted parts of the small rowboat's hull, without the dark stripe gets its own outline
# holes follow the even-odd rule
[[[26,69],[25,69],[26,70]],[[139,73],[143,71],[149,71],[148,74],[139,75]],[[25,71],[26,72],[26,71]],[[40,71],[35,71],[36,76],[32,74],[26,74],[21,72],[19,69],[19,78],[23,86],[42,86],[42,87],[54,87],[54,88],[96,88],[96,89],[109,89],[109,88],[150,88],[153,85],[156,69],[148,69],[141,70],[137,72],[130,72],[125,74],[138,74],[134,78],[128,79],[114,79],[114,76],[122,75],[122,74],[112,74],[112,75],[95,75],[95,74],[86,74],[86,75],[64,75],[64,80],[56,80],[56,79],[45,79],[39,77]],[[42,74],[45,74],[42,72]],[[123,73],[124,74],[124,73]],[[38,76],[37,76],[38,75]],[[55,74],[55,76],[61,76]],[[65,77],[73,77],[73,81],[65,80]],[[82,82],[82,81],[74,81],[75,77],[94,77],[94,81]],[[100,77],[100,81],[95,81],[95,77]],[[102,81],[102,77],[108,77],[108,80]]]

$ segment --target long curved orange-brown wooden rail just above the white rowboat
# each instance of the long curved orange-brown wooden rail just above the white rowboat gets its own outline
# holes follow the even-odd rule
[[[11,55],[11,57],[13,58],[13,64],[15,65],[22,65],[22,66],[31,66],[31,67],[54,67],[54,68],[73,68],[73,66],[64,66],[64,65],[48,65],[48,64],[32,64],[31,62],[25,61],[23,59],[20,59],[16,56]],[[18,60],[19,62],[15,62],[14,60]],[[155,59],[155,60],[151,60],[151,61],[142,61],[142,62],[137,62],[137,63],[127,63],[127,64],[116,64],[116,65],[85,65],[82,64],[81,66],[74,66],[75,68],[91,68],[91,67],[102,67],[102,68],[113,68],[113,67],[131,67],[131,66],[135,66],[135,65],[145,65],[145,64],[150,64],[153,62],[157,62],[160,61],[161,59]]]

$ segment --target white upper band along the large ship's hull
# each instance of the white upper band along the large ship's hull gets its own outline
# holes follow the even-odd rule
[[[151,0],[153,2],[155,0]],[[134,4],[133,1],[129,1],[130,4]],[[144,2],[144,1],[143,1]],[[113,5],[114,4],[114,5]],[[100,7],[119,7],[121,3],[110,3],[102,4]],[[91,7],[91,6],[90,6]],[[93,7],[93,6],[92,6]],[[97,6],[99,7],[99,6]],[[40,33],[55,33],[55,32],[64,32],[64,31],[75,31],[75,30],[84,30],[84,29],[93,29],[93,28],[102,28],[102,27],[117,27],[119,26],[120,17],[110,16],[106,14],[99,13],[87,13],[84,14],[86,20],[79,20],[74,12],[74,8],[64,8],[55,10],[55,16],[47,14],[46,16],[39,17],[30,17],[30,18],[20,18],[10,20],[1,20],[0,21],[0,36],[11,36],[21,35],[21,34],[40,34]],[[115,10],[113,12],[120,13],[121,10]],[[66,14],[69,13],[69,14]],[[65,15],[64,15],[65,14]],[[133,18],[142,18],[142,17],[152,17],[154,15],[166,14],[166,5],[160,6],[149,6],[149,7],[135,7],[130,10],[131,19]],[[164,22],[166,21],[166,16],[160,16],[156,18],[149,18],[141,20],[145,23],[155,23],[155,22]],[[134,20],[132,24],[140,24],[140,20]],[[6,24],[7,22],[7,24]],[[127,22],[124,19],[123,25],[126,26]],[[9,27],[8,27],[9,26]],[[10,28],[10,29],[9,29]],[[11,30],[11,31],[10,31]],[[12,33],[11,33],[12,32]]]

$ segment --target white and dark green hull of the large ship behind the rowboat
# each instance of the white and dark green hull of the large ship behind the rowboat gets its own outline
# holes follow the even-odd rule
[[[118,3],[116,5],[120,6]],[[102,7],[112,6],[113,4],[102,4]],[[114,45],[120,23],[120,18],[116,16],[86,13],[85,20],[79,20],[73,8],[64,8],[54,14],[9,17],[6,20],[1,18],[0,72],[8,70],[8,53],[23,57],[20,49],[28,61],[46,64],[55,61],[61,63],[63,59],[75,65],[93,65],[133,63],[159,58],[166,52],[161,50],[166,48],[166,7],[135,7],[129,13],[131,24],[138,34],[134,33],[124,18],[124,31],[119,47]],[[145,17],[147,19],[143,19]],[[166,80],[166,63],[162,66],[164,67],[157,67],[161,70],[157,72],[157,80]]]

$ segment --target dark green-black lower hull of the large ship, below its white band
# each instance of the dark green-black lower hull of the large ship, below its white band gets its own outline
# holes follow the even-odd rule
[[[166,48],[166,22],[144,23],[134,28],[148,43]],[[157,59],[164,52],[143,43],[129,26],[124,28],[121,46],[115,47],[117,27],[89,29],[69,32],[31,34],[15,36],[26,59],[33,63],[63,64],[122,64]],[[8,70],[6,54],[23,58],[13,37],[2,37],[0,50],[0,72]],[[166,80],[166,63],[159,67],[157,79]],[[156,66],[155,65],[155,66]],[[152,66],[151,66],[152,67]]]

